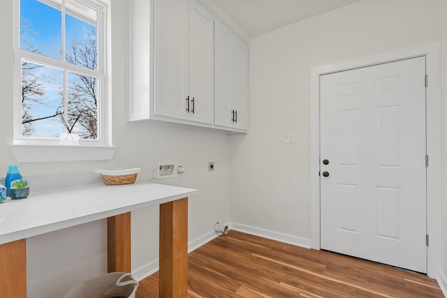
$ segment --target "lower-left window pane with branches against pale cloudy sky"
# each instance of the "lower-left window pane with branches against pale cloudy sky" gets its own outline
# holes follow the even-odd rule
[[[63,108],[64,72],[22,60],[22,136],[59,137],[57,111]]]

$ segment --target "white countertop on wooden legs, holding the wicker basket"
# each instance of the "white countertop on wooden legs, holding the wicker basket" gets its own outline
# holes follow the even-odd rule
[[[196,195],[193,188],[139,182],[33,192],[0,204],[0,244]]]

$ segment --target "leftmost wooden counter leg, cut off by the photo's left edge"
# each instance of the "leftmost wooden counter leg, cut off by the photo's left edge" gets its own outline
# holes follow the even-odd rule
[[[0,297],[27,298],[27,240],[0,245]]]

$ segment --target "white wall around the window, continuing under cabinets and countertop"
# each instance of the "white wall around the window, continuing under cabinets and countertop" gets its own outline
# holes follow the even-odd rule
[[[12,142],[13,90],[11,1],[0,1],[0,176],[6,174],[15,158],[8,145]],[[214,237],[216,221],[230,219],[230,144],[223,133],[175,128],[149,121],[126,122],[127,99],[127,4],[112,1],[112,108],[115,157],[107,162],[22,163],[24,177],[35,174],[93,172],[99,167],[142,167],[138,180],[149,179],[149,167],[158,162],[175,162],[185,167],[182,177],[156,181],[163,184],[198,188],[189,198],[189,242]],[[207,171],[214,161],[214,172]],[[32,200],[31,195],[27,200]],[[131,193],[129,193],[131,195]],[[126,200],[126,198],[123,198]],[[159,208],[132,214],[132,270],[138,274],[154,269],[158,259]],[[106,272],[105,221],[80,225],[27,241],[28,297],[62,297],[79,281]]]

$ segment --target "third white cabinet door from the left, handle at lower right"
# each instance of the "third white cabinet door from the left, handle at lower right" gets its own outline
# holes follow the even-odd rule
[[[214,24],[214,124],[233,127],[233,32]]]

